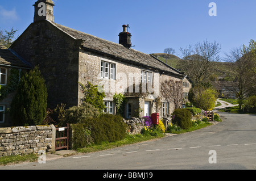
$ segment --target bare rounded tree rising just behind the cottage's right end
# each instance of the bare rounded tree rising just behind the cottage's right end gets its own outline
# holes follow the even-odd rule
[[[179,69],[184,71],[194,83],[207,79],[212,70],[216,69],[215,62],[220,61],[221,45],[216,41],[209,43],[205,40],[203,43],[197,43],[192,47],[180,48],[183,58],[179,61]]]

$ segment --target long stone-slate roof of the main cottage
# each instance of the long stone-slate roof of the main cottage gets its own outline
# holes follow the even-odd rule
[[[184,77],[183,73],[181,73],[179,70],[172,68],[150,54],[142,53],[132,48],[125,48],[121,44],[113,43],[112,41],[104,40],[57,23],[50,23],[59,28],[59,30],[67,33],[67,35],[73,37],[73,39],[83,40],[82,45],[86,49],[118,58],[119,60],[128,62],[130,64],[141,65],[143,67],[152,68],[164,73],[171,73],[178,77]]]

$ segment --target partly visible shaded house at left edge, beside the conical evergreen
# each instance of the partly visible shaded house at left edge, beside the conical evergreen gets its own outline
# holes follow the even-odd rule
[[[30,69],[13,50],[0,43],[0,128],[10,126],[10,115],[6,112],[15,95],[14,87],[20,74]]]

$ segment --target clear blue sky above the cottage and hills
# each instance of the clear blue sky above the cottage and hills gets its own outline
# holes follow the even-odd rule
[[[0,1],[0,28],[21,34],[33,22],[36,0]],[[230,49],[256,40],[254,0],[53,0],[55,22],[118,43],[123,24],[129,24],[132,43],[144,53],[163,53],[197,42],[216,40],[221,57]],[[217,16],[209,16],[210,2]],[[180,56],[181,57],[181,56]]]

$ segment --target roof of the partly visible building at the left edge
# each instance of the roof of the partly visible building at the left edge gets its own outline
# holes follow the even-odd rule
[[[15,66],[20,68],[30,68],[27,64],[25,64],[18,56],[15,55],[13,50],[5,47],[0,43],[0,64],[6,66]]]

